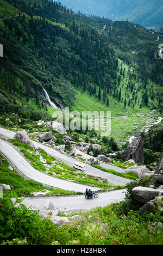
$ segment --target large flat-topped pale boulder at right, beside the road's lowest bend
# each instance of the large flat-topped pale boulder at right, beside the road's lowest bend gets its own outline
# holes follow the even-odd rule
[[[151,187],[134,187],[132,190],[133,197],[140,203],[147,203],[159,196],[160,189]]]

